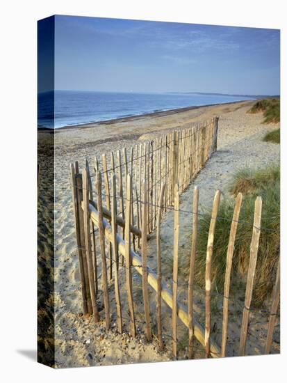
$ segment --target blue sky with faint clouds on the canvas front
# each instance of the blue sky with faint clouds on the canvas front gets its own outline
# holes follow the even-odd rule
[[[275,29],[56,16],[55,88],[279,94]]]

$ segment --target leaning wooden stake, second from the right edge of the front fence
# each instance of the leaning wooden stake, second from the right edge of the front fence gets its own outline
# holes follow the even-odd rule
[[[246,292],[245,292],[245,304],[243,308],[243,318],[242,318],[242,325],[241,325],[241,331],[240,331],[239,355],[241,357],[245,354],[249,310],[250,310],[250,304],[252,299],[254,275],[255,275],[255,269],[256,269],[259,238],[260,238],[260,232],[261,232],[261,229],[260,229],[261,210],[262,210],[262,198],[259,196],[256,198],[256,201],[255,201],[254,225],[253,225],[253,232],[252,232],[252,240],[250,244],[250,258],[249,258],[249,267],[248,267]]]

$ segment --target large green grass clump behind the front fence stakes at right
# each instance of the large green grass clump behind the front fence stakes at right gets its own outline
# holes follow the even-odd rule
[[[243,184],[243,175],[246,175],[246,184]],[[251,183],[250,183],[251,182]],[[251,186],[250,186],[251,185]],[[254,279],[254,292],[252,304],[260,306],[272,292],[276,278],[276,268],[280,247],[280,181],[279,166],[270,166],[252,172],[249,169],[240,171],[234,178],[231,191],[243,192],[244,198],[240,210],[238,230],[236,234],[235,249],[233,253],[233,266],[231,271],[231,286],[245,293],[245,283],[249,265],[250,242],[252,239],[252,226],[254,219],[254,201],[257,195],[263,198],[261,219],[261,237],[259,253]],[[234,203],[222,201],[216,223],[213,258],[212,283],[213,289],[223,294],[227,247]],[[205,212],[199,219],[197,258],[195,261],[195,283],[202,288],[205,286],[206,244],[211,221],[211,212]],[[188,255],[183,270],[186,269],[188,279]]]

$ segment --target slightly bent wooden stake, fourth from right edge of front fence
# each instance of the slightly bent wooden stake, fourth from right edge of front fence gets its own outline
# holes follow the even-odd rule
[[[206,250],[206,269],[205,269],[205,356],[210,354],[210,335],[211,335],[211,258],[213,254],[213,242],[218,217],[218,208],[220,203],[220,190],[215,193],[213,208],[211,212],[211,224],[209,226],[208,242]]]

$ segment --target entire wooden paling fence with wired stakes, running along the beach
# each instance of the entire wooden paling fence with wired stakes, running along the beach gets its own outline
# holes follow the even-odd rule
[[[133,298],[132,269],[142,276],[142,305],[144,312],[145,335],[151,341],[151,326],[156,322],[156,338],[163,349],[162,304],[172,310],[171,334],[172,353],[178,354],[178,320],[188,328],[188,357],[194,356],[194,339],[204,347],[206,357],[224,357],[227,349],[229,290],[233,250],[236,230],[242,203],[238,194],[231,221],[227,267],[224,280],[222,343],[221,347],[211,337],[211,260],[215,235],[220,190],[215,193],[211,224],[206,244],[205,276],[205,324],[195,318],[193,310],[194,269],[197,252],[197,226],[199,189],[195,187],[192,211],[192,239],[190,245],[190,269],[186,290],[188,304],[178,299],[179,268],[179,207],[180,194],[195,178],[209,157],[216,151],[218,118],[182,130],[174,130],[156,139],[132,146],[129,155],[126,149],[110,153],[110,164],[106,155],[101,161],[96,157],[95,172],[90,173],[88,161],[82,172],[79,164],[71,164],[72,194],[76,228],[76,242],[79,254],[83,313],[94,316],[99,322],[97,299],[101,294],[104,303],[106,329],[110,328],[110,283],[114,284],[117,331],[122,333],[124,322],[129,322],[131,336],[136,336],[137,322]],[[95,187],[93,187],[95,186]],[[245,291],[245,304],[242,313],[238,354],[245,354],[249,311],[252,302],[254,273],[261,233],[262,199],[257,197],[254,206],[254,224],[250,244],[249,269]],[[161,219],[167,210],[174,212],[174,243],[172,290],[167,288],[162,276],[161,260]],[[186,211],[184,211],[186,213]],[[156,270],[147,264],[147,241],[149,234],[156,229]],[[97,233],[97,235],[96,235]],[[100,251],[97,254],[96,242]],[[99,269],[101,265],[101,270]],[[125,274],[125,275],[124,275]],[[101,290],[99,280],[101,279]],[[129,308],[129,318],[122,314],[122,283]],[[274,284],[272,306],[268,323],[265,353],[272,347],[277,308],[279,305],[279,264]],[[151,313],[149,290],[156,292],[156,311]],[[165,334],[166,335],[166,334]],[[155,336],[155,335],[154,335]]]

